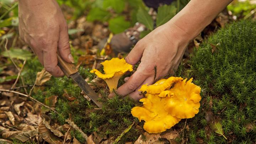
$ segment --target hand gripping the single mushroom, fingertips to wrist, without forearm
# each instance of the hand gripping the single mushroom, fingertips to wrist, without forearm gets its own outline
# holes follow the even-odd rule
[[[134,100],[142,98],[138,90],[144,84],[153,84],[154,67],[156,80],[176,70],[189,41],[188,34],[170,22],[150,32],[127,55],[127,63],[135,65],[139,60],[141,62],[137,71],[126,78],[127,82],[117,89],[117,93],[122,96],[129,95]],[[113,97],[113,94],[109,97]]]

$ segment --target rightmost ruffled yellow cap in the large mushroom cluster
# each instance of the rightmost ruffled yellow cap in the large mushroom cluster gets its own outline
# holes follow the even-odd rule
[[[199,112],[201,88],[192,83],[192,78],[177,82],[169,91],[173,96],[166,97],[165,110],[178,118],[192,118]]]

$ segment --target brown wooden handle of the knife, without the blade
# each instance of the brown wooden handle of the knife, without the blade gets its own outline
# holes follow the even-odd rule
[[[68,78],[71,74],[78,72],[78,69],[76,68],[76,66],[72,63],[65,62],[65,60],[62,59],[59,53],[57,53],[57,58],[58,58],[58,66]]]

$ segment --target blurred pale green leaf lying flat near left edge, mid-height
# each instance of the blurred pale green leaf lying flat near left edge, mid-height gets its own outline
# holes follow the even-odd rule
[[[11,58],[25,60],[25,59],[30,59],[33,54],[28,52],[27,50],[23,50],[20,48],[11,48],[8,51],[2,52],[2,55],[4,57],[9,57],[9,55],[10,55]]]

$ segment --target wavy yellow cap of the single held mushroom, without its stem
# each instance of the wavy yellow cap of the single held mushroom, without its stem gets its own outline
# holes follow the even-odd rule
[[[103,71],[105,74],[102,74],[97,69],[93,69],[90,73],[95,73],[99,78],[109,79],[112,78],[116,73],[117,75],[123,75],[126,71],[132,71],[133,66],[126,63],[126,61],[122,58],[112,58],[111,60],[105,60],[105,62],[101,63],[103,65]]]

